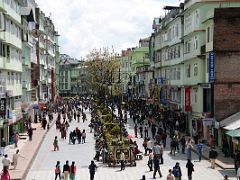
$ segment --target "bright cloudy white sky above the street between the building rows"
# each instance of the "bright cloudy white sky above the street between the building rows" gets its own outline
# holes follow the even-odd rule
[[[51,16],[59,37],[60,53],[84,58],[92,49],[114,52],[138,46],[152,33],[154,17],[165,5],[179,0],[35,0]]]

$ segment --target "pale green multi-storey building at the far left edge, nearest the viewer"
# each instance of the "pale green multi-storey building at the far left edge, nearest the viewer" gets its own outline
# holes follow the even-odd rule
[[[22,117],[21,6],[21,1],[17,0],[0,1],[0,92],[1,107],[4,107],[1,113],[4,120],[0,121],[2,127],[0,136],[5,137],[7,142]]]

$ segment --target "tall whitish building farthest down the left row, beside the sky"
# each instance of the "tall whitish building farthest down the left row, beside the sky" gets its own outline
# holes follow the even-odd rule
[[[55,61],[58,49],[58,33],[49,17],[36,8],[37,64],[33,64],[33,84],[36,88],[32,97],[37,100],[55,99]],[[58,57],[58,56],[57,56]]]

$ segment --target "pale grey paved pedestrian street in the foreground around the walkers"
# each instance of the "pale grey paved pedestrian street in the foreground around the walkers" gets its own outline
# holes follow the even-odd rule
[[[26,177],[26,180],[53,180],[54,179],[54,169],[57,161],[61,162],[61,168],[65,164],[66,160],[69,160],[69,163],[75,161],[77,166],[76,180],[87,180],[89,179],[89,170],[88,165],[95,155],[94,149],[94,137],[93,133],[90,133],[90,128],[88,127],[90,122],[90,113],[87,111],[88,121],[83,123],[77,123],[73,120],[70,123],[70,130],[78,127],[80,130],[87,130],[87,138],[85,144],[69,145],[69,140],[61,140],[59,130],[56,130],[55,125],[49,130],[44,139],[41,148],[32,163],[32,166],[29,170],[29,173]],[[129,133],[134,133],[134,125],[131,119],[128,120],[127,129]],[[150,134],[150,133],[149,133]],[[53,151],[53,140],[55,136],[58,136],[59,139],[59,151]],[[138,146],[141,151],[143,151],[141,138],[133,138],[133,141],[137,141]],[[161,165],[161,171],[163,177],[161,179],[166,179],[168,170],[172,169],[176,162],[180,163],[182,170],[182,180],[187,180],[187,169],[186,169],[186,155],[181,153],[176,153],[176,156],[169,154],[169,141],[167,142],[166,150],[164,151],[164,164]],[[196,154],[194,154],[194,159],[197,159]],[[193,160],[194,169],[193,179],[194,180],[221,180],[223,179],[224,174],[229,175],[229,179],[233,178],[233,170],[224,171],[220,168],[211,169],[210,163],[207,160],[202,160],[201,162],[195,162]],[[120,165],[116,167],[108,167],[106,164],[96,163],[99,167],[95,174],[95,180],[139,180],[142,175],[146,176],[146,179],[153,178],[153,172],[150,172],[147,167],[148,157],[144,156],[143,160],[137,160],[136,167],[126,167],[124,171],[120,171]],[[62,170],[62,169],[61,169]],[[156,175],[157,179],[159,175]]]

